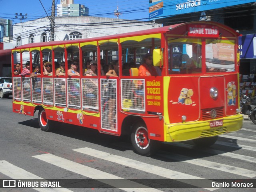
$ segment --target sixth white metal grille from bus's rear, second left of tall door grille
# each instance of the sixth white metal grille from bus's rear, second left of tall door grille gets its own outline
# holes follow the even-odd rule
[[[67,79],[68,86],[68,106],[80,108],[80,79]]]

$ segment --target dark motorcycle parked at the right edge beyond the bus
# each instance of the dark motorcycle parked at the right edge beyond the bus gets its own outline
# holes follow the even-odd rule
[[[256,124],[256,100],[252,100],[246,95],[242,95],[240,100],[240,110],[244,115],[248,115],[249,119]]]

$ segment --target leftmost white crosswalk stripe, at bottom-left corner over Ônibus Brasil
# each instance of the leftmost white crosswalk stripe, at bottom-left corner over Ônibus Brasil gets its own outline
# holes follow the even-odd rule
[[[17,167],[8,161],[0,161],[0,172],[12,179],[44,179],[38,177],[20,167]],[[66,188],[33,188],[39,192],[72,192]]]

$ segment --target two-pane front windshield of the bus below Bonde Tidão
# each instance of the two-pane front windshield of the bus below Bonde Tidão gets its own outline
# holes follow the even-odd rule
[[[196,38],[168,39],[169,74],[231,72],[235,70],[233,40],[205,40],[205,54],[202,54],[202,41]],[[205,56],[205,65],[202,65]]]

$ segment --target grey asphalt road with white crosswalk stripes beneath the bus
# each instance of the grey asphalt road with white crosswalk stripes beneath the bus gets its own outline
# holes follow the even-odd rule
[[[242,192],[244,188],[190,187],[191,184],[200,186],[200,179],[212,182],[256,178],[256,125],[249,120],[244,120],[239,132],[220,136],[211,148],[196,148],[190,141],[162,144],[155,156],[144,157],[135,154],[124,137],[62,123],[53,132],[42,132],[37,114],[31,117],[12,112],[11,98],[0,99],[0,111],[0,179],[66,179],[76,186],[82,186],[79,179],[104,179],[96,186],[106,183],[116,187],[96,188],[87,183],[86,189],[0,188],[1,192]],[[128,179],[145,179],[145,182],[153,179],[150,181],[158,188],[142,188]],[[164,180],[156,179],[189,180],[171,183],[177,188],[161,188],[159,185],[162,186]],[[167,187],[166,182],[164,184]],[[256,191],[256,188],[247,191]]]

